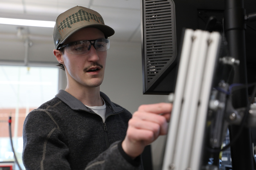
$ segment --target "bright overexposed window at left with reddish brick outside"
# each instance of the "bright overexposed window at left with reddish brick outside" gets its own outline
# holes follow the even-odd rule
[[[0,65],[0,162],[14,161],[9,138],[11,116],[15,154],[23,167],[23,122],[30,111],[58,93],[58,71],[57,67]]]

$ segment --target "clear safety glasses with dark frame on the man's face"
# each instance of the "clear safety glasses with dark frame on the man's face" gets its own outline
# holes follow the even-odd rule
[[[101,38],[97,40],[83,40],[83,41],[76,41],[70,42],[66,45],[62,45],[58,48],[66,48],[67,53],[70,54],[84,54],[90,51],[91,45],[96,49],[96,51],[107,51],[110,46],[110,42],[108,39]]]

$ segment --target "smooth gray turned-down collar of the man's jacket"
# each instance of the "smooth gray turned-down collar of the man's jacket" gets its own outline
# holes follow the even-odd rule
[[[76,110],[76,111],[83,110],[83,111],[91,112],[79,99],[76,99],[76,97],[72,96],[67,91],[59,90],[58,94],[56,94],[55,96],[58,97],[62,102],[66,103],[73,110]],[[123,111],[122,108],[119,108],[113,105],[113,103],[111,102],[111,100],[108,98],[106,94],[100,92],[100,96],[102,96],[102,98],[106,102],[106,105],[110,108],[110,110],[113,113],[119,113]]]

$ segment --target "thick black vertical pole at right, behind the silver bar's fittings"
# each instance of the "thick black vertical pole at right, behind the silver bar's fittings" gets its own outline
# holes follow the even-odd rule
[[[224,28],[230,56],[240,60],[235,67],[233,83],[247,84],[246,54],[245,54],[245,9],[243,0],[225,0]],[[248,91],[242,89],[233,94],[234,108],[246,107]],[[230,127],[230,140],[236,136],[239,126]],[[253,170],[253,153],[250,129],[244,128],[239,139],[231,147],[232,169]]]

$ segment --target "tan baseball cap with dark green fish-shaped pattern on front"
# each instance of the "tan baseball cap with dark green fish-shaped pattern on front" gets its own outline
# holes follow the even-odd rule
[[[98,28],[106,37],[115,33],[111,27],[105,25],[98,12],[83,6],[75,6],[61,13],[56,19],[52,34],[55,49],[58,49],[70,35],[86,27]]]

